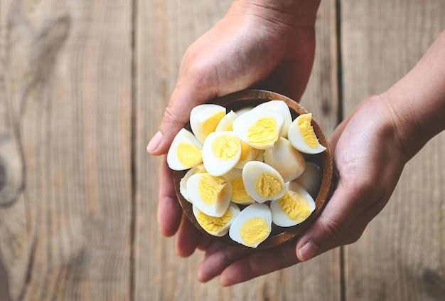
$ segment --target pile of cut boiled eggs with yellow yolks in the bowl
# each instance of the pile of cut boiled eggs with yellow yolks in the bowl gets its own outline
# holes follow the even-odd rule
[[[203,104],[191,111],[190,126],[192,132],[183,128],[173,139],[167,163],[176,171],[189,169],[180,191],[207,233],[228,232],[233,241],[256,248],[272,223],[291,227],[311,215],[321,170],[302,153],[326,148],[310,113],[292,120],[282,100],[228,113]]]

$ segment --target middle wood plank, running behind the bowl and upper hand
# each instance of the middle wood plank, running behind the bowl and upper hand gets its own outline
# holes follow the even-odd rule
[[[161,122],[183,53],[225,14],[231,1],[136,3],[136,300],[295,300],[296,295],[301,300],[340,300],[338,250],[223,289],[218,280],[205,285],[196,280],[202,253],[178,258],[174,238],[161,236],[156,222],[159,158],[146,154],[146,144]],[[335,16],[335,1],[323,1],[316,25],[316,63],[302,99],[327,134],[336,125],[338,109]]]

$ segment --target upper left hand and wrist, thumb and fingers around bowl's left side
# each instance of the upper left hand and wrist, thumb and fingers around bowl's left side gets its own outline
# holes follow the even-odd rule
[[[319,1],[254,4],[259,2],[235,1],[227,15],[188,49],[159,132],[147,147],[151,154],[165,154],[173,137],[188,122],[191,109],[213,97],[254,87],[299,100],[313,64]],[[277,7],[282,3],[289,5],[289,10]],[[295,14],[291,14],[293,9]],[[182,216],[165,158],[160,181],[158,221],[163,235],[178,232],[179,255],[205,248],[208,241],[203,241]]]

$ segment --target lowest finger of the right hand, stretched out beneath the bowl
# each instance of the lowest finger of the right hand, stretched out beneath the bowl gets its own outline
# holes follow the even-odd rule
[[[296,263],[299,263],[299,259],[295,253],[295,242],[279,248],[261,250],[225,268],[221,273],[220,283],[223,286],[234,285]]]

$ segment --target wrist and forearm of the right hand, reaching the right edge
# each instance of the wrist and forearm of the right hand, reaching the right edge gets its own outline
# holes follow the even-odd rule
[[[445,130],[445,31],[407,75],[382,93],[409,158]]]

